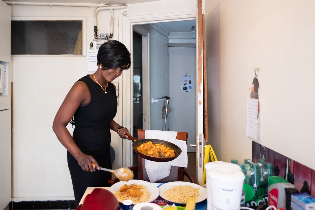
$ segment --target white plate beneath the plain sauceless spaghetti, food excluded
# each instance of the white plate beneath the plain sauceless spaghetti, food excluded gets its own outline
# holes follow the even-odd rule
[[[162,198],[164,198],[165,200],[168,200],[170,202],[174,202],[169,200],[167,197],[164,196],[164,190],[168,190],[170,188],[172,188],[173,186],[180,186],[180,185],[190,185],[193,188],[199,188],[199,194],[201,195],[201,197],[199,197],[198,199],[196,199],[196,203],[199,203],[201,201],[204,201],[207,198],[207,190],[204,189],[202,186],[198,185],[198,184],[194,184],[194,183],[190,183],[190,182],[168,182],[165,184],[162,184],[158,189],[160,191],[160,196]],[[180,203],[180,202],[176,202],[176,203]],[[180,203],[180,204],[186,204],[186,203]]]

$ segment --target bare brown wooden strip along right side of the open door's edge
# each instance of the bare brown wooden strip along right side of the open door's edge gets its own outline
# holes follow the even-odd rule
[[[208,142],[208,104],[207,104],[207,55],[206,55],[206,25],[202,14],[202,48],[203,48],[203,134]]]

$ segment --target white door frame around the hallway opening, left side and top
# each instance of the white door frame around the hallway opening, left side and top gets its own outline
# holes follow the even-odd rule
[[[158,23],[158,22],[169,22],[169,21],[180,21],[180,20],[195,20],[196,10],[165,13],[165,14],[152,14],[152,15],[138,15],[138,16],[127,15],[127,16],[123,16],[122,19],[123,19],[122,21],[123,33],[122,33],[122,37],[121,36],[119,37],[119,41],[122,42],[127,47],[129,52],[133,52],[133,31],[134,31],[135,25]],[[149,46],[148,46],[148,49],[149,49]],[[132,54],[131,54],[131,60],[133,60]],[[149,60],[148,55],[146,57],[146,60]],[[149,62],[146,65],[148,65],[149,67]],[[127,127],[130,133],[133,135],[133,65],[131,65],[129,70],[123,71],[122,79],[123,79],[123,100],[122,100],[123,126]],[[149,91],[147,94],[150,96]],[[132,165],[133,165],[132,142],[126,139],[123,139],[122,166],[130,167]]]

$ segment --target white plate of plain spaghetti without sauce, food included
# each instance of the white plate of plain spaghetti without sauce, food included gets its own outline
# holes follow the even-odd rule
[[[190,182],[168,182],[159,188],[160,196],[170,202],[186,204],[190,197],[195,197],[196,203],[207,198],[207,190]]]

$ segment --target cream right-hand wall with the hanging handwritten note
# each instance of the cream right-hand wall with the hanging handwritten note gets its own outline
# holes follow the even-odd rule
[[[220,112],[209,139],[221,160],[251,158],[246,98],[262,67],[257,142],[315,168],[314,9],[311,0],[206,0],[208,111]]]

